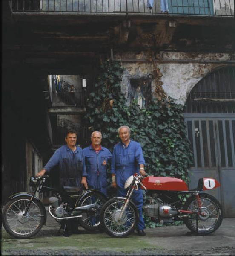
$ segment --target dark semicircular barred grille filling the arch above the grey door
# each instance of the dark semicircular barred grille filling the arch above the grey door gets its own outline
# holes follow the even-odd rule
[[[235,67],[208,74],[189,93],[185,113],[235,113]]]

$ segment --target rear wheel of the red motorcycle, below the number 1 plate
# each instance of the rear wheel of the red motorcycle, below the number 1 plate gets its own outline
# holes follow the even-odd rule
[[[198,215],[198,233],[207,235],[215,230],[221,225],[223,220],[223,210],[221,204],[212,195],[206,193],[200,193],[199,197],[201,199],[201,212]],[[197,209],[197,200],[195,196],[187,199],[185,208],[188,210]],[[192,232],[196,233],[196,213],[190,215],[184,219],[184,223]]]

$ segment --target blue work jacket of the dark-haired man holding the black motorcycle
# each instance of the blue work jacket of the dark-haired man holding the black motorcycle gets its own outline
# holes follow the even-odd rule
[[[54,166],[59,167],[60,186],[81,187],[81,177],[86,177],[85,158],[82,149],[76,145],[72,151],[67,145],[58,148],[43,169],[50,171]]]

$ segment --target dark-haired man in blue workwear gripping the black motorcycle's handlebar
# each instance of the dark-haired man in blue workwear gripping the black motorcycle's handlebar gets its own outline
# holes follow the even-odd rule
[[[65,141],[66,145],[63,145],[54,152],[48,163],[35,177],[43,176],[46,171],[50,172],[54,166],[58,166],[60,188],[66,189],[66,187],[69,187],[74,191],[81,192],[82,185],[87,189],[87,174],[83,151],[76,145],[76,131],[67,131]],[[72,204],[72,202],[69,201],[69,204]],[[64,235],[68,236],[71,231],[77,233],[77,224],[72,221],[66,221]]]

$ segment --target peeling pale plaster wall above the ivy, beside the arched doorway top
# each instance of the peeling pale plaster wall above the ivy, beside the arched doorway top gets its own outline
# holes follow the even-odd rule
[[[126,97],[127,105],[130,104],[130,79],[152,78],[152,95],[155,97],[155,86],[159,84],[159,79],[155,78],[153,74],[154,70],[159,68],[162,74],[160,81],[163,82],[162,87],[165,93],[167,96],[174,98],[177,103],[183,105],[187,95],[198,81],[213,70],[229,65],[229,62],[226,64],[226,61],[235,59],[234,55],[227,53],[198,54],[176,52],[161,54],[160,61],[155,60],[155,64],[153,64],[148,62],[147,59],[146,62],[143,62],[143,59],[138,61],[140,58],[136,59],[136,62],[129,62],[125,60],[127,57],[129,55],[116,55],[117,59],[123,61],[122,65],[125,68],[121,88]],[[145,54],[142,57],[146,58]],[[221,61],[221,63],[218,61]]]

